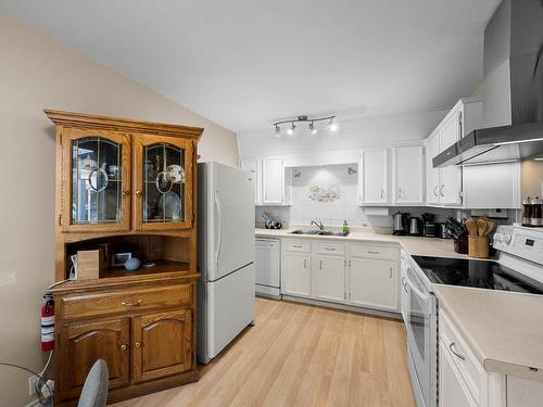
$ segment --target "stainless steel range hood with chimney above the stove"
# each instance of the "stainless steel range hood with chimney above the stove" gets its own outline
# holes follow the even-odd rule
[[[543,2],[504,0],[484,30],[484,127],[433,167],[543,157]]]

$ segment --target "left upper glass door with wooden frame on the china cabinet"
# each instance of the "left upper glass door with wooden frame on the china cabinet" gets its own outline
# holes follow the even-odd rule
[[[128,230],[128,136],[68,129],[64,139],[63,229]]]

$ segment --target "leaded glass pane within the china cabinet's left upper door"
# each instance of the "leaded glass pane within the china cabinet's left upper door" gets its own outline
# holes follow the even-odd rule
[[[101,137],[72,144],[72,224],[121,222],[122,145]]]

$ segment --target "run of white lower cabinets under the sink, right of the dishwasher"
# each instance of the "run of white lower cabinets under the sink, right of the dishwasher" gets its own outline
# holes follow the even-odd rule
[[[281,247],[282,294],[400,313],[397,247],[302,239]]]

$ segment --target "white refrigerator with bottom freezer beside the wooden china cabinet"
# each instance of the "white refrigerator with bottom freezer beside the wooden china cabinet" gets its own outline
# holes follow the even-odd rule
[[[198,359],[209,364],[254,321],[253,175],[198,165]]]

